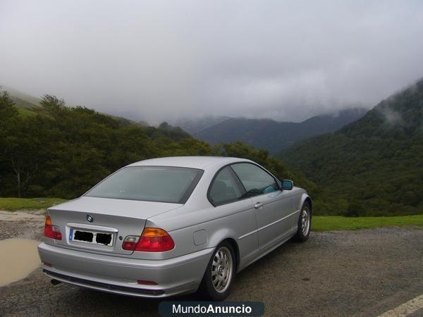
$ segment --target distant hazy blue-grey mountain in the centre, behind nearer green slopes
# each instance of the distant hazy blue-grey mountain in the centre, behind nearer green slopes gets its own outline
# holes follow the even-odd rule
[[[278,122],[271,119],[226,118],[208,128],[191,133],[197,139],[210,144],[239,140],[276,154],[301,139],[336,131],[364,116],[366,111],[364,108],[348,108],[338,113],[315,116],[300,123]]]

